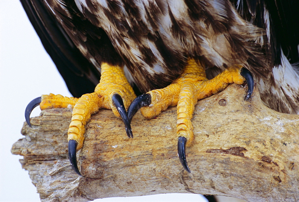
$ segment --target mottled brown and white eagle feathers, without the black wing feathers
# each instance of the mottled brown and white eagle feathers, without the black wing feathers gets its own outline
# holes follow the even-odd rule
[[[265,104],[299,113],[299,76],[283,51],[277,57],[266,1],[250,2],[248,12],[236,5],[241,15],[228,0],[45,1],[90,63],[99,70],[102,62],[125,64],[141,92],[167,86],[193,57],[208,78],[245,66]]]

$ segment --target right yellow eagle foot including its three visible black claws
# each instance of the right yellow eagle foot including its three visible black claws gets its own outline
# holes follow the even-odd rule
[[[187,61],[183,73],[173,83],[163,89],[156,89],[138,96],[129,107],[128,117],[132,116],[141,108],[142,115],[151,119],[158,116],[168,107],[177,106],[176,133],[178,137],[178,155],[183,168],[190,172],[187,165],[185,147],[191,146],[194,140],[191,119],[195,104],[198,100],[209,97],[225,89],[230,83],[248,83],[248,99],[253,91],[253,77],[242,66],[234,66],[226,69],[215,78],[208,80],[205,69],[199,62],[193,59]]]

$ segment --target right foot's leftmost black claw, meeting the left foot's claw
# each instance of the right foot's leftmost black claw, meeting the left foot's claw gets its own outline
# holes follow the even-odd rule
[[[141,107],[149,106],[151,102],[152,102],[152,96],[148,93],[139,95],[137,98],[135,98],[130,104],[127,113],[130,123],[135,113],[138,112],[138,110],[140,110]]]

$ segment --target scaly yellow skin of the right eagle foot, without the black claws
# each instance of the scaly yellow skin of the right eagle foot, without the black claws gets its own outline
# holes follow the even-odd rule
[[[230,83],[242,84],[245,78],[240,75],[242,66],[229,68],[208,80],[205,69],[195,60],[189,59],[183,73],[173,83],[163,89],[148,92],[152,97],[149,107],[142,107],[141,113],[151,119],[165,111],[169,106],[177,105],[177,136],[187,139],[187,146],[192,145],[193,126],[191,119],[198,100],[209,97],[225,89]]]

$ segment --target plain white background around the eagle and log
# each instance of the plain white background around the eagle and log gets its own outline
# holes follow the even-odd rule
[[[27,104],[42,94],[71,96],[18,0],[0,0],[0,201],[39,201],[21,156],[11,154],[23,138]],[[39,116],[39,107],[31,113]],[[231,201],[226,198],[223,201]],[[206,201],[196,194],[160,194],[96,201]]]

